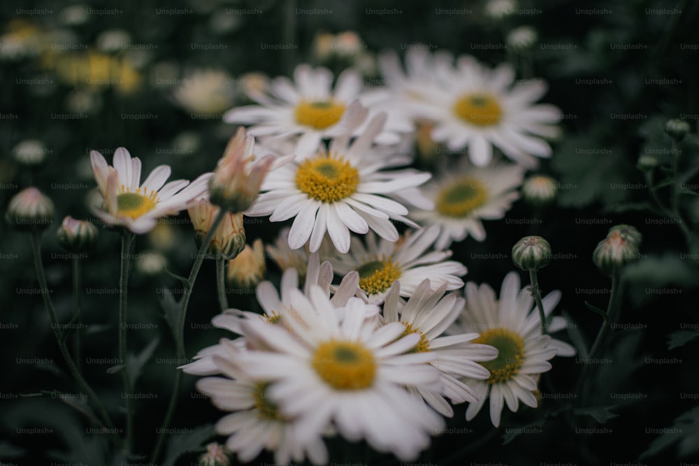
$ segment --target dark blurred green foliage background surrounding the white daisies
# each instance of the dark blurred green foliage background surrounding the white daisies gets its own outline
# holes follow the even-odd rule
[[[468,266],[466,280],[498,289],[514,269],[514,242],[528,234],[547,238],[557,256],[540,272],[540,286],[545,293],[563,291],[559,312],[574,323],[568,338],[582,338],[589,345],[600,319],[584,302],[606,307],[610,288],[609,279],[591,261],[592,251],[610,226],[632,224],[644,240],[642,259],[628,270],[626,280],[620,322],[628,325],[614,330],[614,343],[605,353],[613,362],[600,366],[586,382],[586,411],[572,413],[570,403],[552,399],[583,396],[575,386],[582,365],[572,358],[559,359],[542,384],[542,414],[521,409],[511,416],[511,425],[524,428],[521,435],[493,430],[487,416],[466,423],[466,407],[457,406],[449,423],[456,433],[435,438],[420,461],[634,463],[650,448],[652,455],[644,457],[648,464],[658,458],[666,461],[663,464],[677,464],[699,453],[699,381],[696,342],[691,343],[699,328],[694,230],[699,203],[688,196],[682,204],[689,235],[672,219],[653,214],[647,209],[648,180],[637,162],[639,156],[649,156],[658,166],[656,176],[663,177],[661,168],[681,153],[681,167],[688,174],[683,182],[689,191],[698,191],[692,186],[698,182],[693,174],[699,167],[699,6],[659,0],[584,3],[3,2],[0,205],[4,210],[9,199],[28,186],[38,187],[55,203],[55,226],[43,236],[43,259],[59,321],[66,322],[73,312],[73,256],[59,247],[55,229],[66,215],[92,218],[87,208],[96,186],[91,150],[111,161],[116,147],[126,147],[143,161],[144,173],[166,163],[173,168],[173,179],[192,180],[215,168],[236,130],[222,122],[222,113],[250,103],[247,92],[261,89],[269,78],[290,75],[296,64],[328,66],[336,73],[353,66],[373,87],[382,84],[377,54],[392,49],[403,56],[417,43],[433,51],[471,54],[491,66],[510,61],[518,79],[548,82],[542,101],[563,112],[554,156],[535,172],[559,181],[556,202],[542,209],[517,202],[506,219],[486,224],[487,241],[468,238],[454,245],[454,259]],[[691,135],[675,146],[664,131],[670,118],[691,126]],[[438,151],[417,144],[414,148],[415,166],[431,170]],[[666,195],[662,187],[656,194]],[[278,228],[269,225],[266,219],[246,218],[248,242],[273,241]],[[120,236],[100,229],[94,252],[80,257],[83,320],[88,324],[83,353],[95,360],[116,357],[118,325]],[[186,212],[139,236],[135,252],[129,347],[139,351],[159,341],[137,386],[144,396],[136,402],[138,429],[143,432],[136,444],[148,451],[154,435],[147,432],[154,432],[164,414],[176,367],[167,362],[174,344],[159,301],[164,295],[178,297],[181,289],[164,270],[187,275],[196,252]],[[277,266],[272,261],[267,265],[268,278],[278,280]],[[83,419],[66,403],[42,393],[75,393],[75,388],[38,294],[29,237],[4,223],[0,276],[0,460],[99,464],[90,458],[102,458],[106,442],[87,435]],[[185,341],[190,357],[227,336],[209,326],[219,312],[214,277],[212,262],[205,262],[188,313]],[[229,300],[240,309],[259,309],[253,288],[238,288]],[[690,332],[689,343],[669,349],[668,335],[678,330]],[[85,361],[84,370],[110,412],[117,413],[122,405],[120,380],[106,373],[110,365]],[[195,377],[184,378],[175,427],[191,429],[220,416],[194,391],[194,381]],[[546,393],[557,395],[547,398]],[[638,395],[622,400],[615,393]],[[36,396],[22,396],[31,394]],[[658,430],[685,414],[683,432]],[[30,435],[18,433],[18,427],[52,432]],[[586,434],[577,428],[609,432]],[[381,464],[398,464],[389,456],[366,456],[366,449],[330,444],[350,463],[378,458]],[[181,464],[195,460],[190,453]],[[256,461],[272,460],[261,456]]]

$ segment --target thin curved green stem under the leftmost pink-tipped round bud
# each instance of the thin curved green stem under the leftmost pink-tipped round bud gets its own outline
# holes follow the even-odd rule
[[[66,346],[66,343],[63,340],[63,332],[58,323],[56,311],[53,307],[53,302],[51,300],[51,297],[49,296],[48,284],[46,283],[46,275],[44,273],[43,263],[41,261],[40,237],[41,233],[39,233],[38,231],[31,232],[31,250],[34,254],[34,268],[36,268],[36,277],[38,279],[39,286],[41,286],[41,297],[43,298],[44,305],[46,307],[46,310],[48,311],[49,318],[51,319],[51,328],[53,329],[53,334],[56,337],[58,348],[61,351],[61,355],[63,356],[64,361],[66,361],[66,365],[68,366],[69,372],[73,376],[73,379],[75,379],[75,382],[78,384],[80,391],[87,395],[87,397],[90,400],[92,400],[92,403],[95,409],[97,410],[97,414],[101,418],[101,422],[103,423],[104,427],[106,427],[109,430],[109,432],[113,432],[113,435],[110,435],[112,441],[117,447],[122,448],[122,440],[120,439],[119,435],[116,432],[116,429],[114,428],[112,418],[110,418],[109,414],[107,413],[107,410],[104,409],[104,406],[100,402],[97,393],[95,393],[95,391],[92,390],[92,387],[89,386],[85,378],[82,377],[80,370],[78,370],[78,366],[75,365],[75,361],[73,361],[71,353],[70,351],[68,351],[68,347]]]

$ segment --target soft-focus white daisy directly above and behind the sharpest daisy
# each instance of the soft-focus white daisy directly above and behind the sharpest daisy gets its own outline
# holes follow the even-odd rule
[[[301,64],[294,70],[294,81],[280,77],[272,80],[264,92],[250,92],[258,105],[233,108],[224,114],[227,123],[252,124],[254,136],[296,138],[296,154],[306,157],[315,154],[323,138],[333,138],[347,131],[349,105],[361,101],[370,105],[372,113],[389,112],[387,125],[377,134],[377,143],[398,142],[399,132],[405,133],[412,125],[400,112],[380,108],[388,94],[374,91],[361,94],[361,75],[352,69],[343,71],[332,87],[333,75],[327,68],[312,68]],[[355,128],[354,136],[365,128]]]

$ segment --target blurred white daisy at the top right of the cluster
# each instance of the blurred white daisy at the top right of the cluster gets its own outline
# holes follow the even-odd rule
[[[486,166],[497,147],[523,166],[536,164],[533,156],[551,156],[542,138],[553,138],[561,111],[553,105],[535,104],[545,94],[542,80],[512,86],[512,66],[491,70],[473,57],[459,57],[456,67],[435,61],[438,85],[426,87],[427,103],[420,106],[426,119],[435,121],[432,138],[449,150],[468,147],[470,160]]]

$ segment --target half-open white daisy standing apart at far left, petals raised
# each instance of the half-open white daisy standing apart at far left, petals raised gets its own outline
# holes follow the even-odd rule
[[[160,165],[140,183],[140,159],[132,159],[124,147],[115,150],[113,167],[94,150],[90,152],[90,161],[103,198],[103,205],[94,207],[94,214],[107,224],[124,226],[136,234],[147,233],[157,219],[177,214],[204,196],[212,175],[205,173],[192,183],[175,180],[166,184],[171,168]]]

